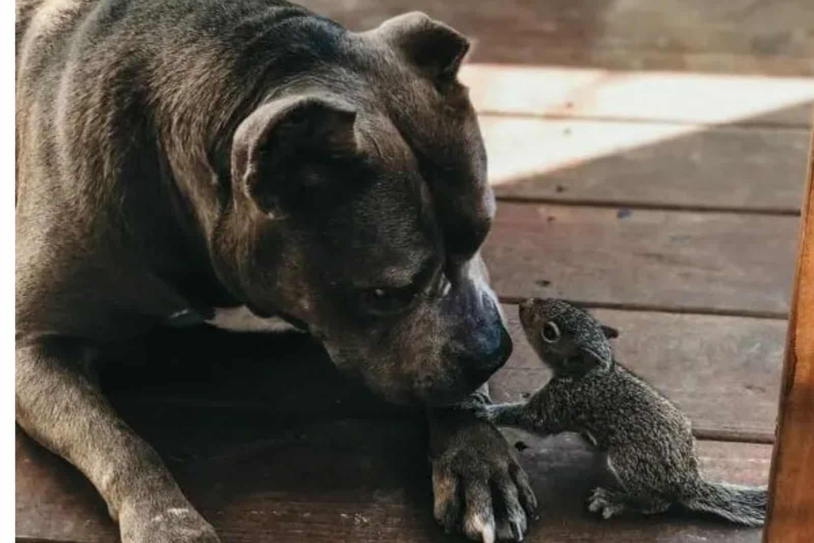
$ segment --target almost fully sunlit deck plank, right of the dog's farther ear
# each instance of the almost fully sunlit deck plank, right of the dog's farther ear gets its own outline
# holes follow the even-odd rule
[[[807,128],[814,78],[466,63],[483,114]],[[733,100],[737,96],[737,100]]]

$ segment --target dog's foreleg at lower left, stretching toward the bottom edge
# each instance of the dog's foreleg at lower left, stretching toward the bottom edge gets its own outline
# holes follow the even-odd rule
[[[116,416],[89,378],[86,352],[57,338],[17,341],[17,423],[90,479],[124,543],[217,543],[155,450]]]

